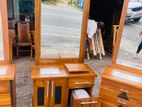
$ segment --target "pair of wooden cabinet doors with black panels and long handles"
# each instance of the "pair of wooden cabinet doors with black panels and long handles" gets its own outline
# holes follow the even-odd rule
[[[67,80],[44,79],[34,81],[34,107],[66,107]]]

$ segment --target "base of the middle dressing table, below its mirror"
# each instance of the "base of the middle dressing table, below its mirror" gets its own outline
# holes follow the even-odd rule
[[[70,90],[86,88],[92,95],[95,77],[89,67],[87,73],[69,74],[64,65],[33,66],[33,107],[68,107]]]

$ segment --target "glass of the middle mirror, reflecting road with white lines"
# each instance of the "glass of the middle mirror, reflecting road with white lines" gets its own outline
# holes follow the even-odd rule
[[[42,0],[41,58],[79,58],[83,9],[71,0]]]

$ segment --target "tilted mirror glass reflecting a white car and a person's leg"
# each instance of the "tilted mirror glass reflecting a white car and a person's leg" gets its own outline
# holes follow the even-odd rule
[[[142,69],[142,3],[129,1],[117,63]]]

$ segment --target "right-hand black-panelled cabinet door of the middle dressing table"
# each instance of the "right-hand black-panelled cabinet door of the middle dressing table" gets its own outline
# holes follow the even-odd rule
[[[67,80],[52,79],[51,80],[51,102],[50,107],[66,107],[67,106]]]

